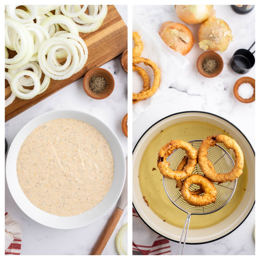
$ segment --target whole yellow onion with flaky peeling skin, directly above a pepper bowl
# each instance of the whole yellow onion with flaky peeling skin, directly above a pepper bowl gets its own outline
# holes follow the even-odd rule
[[[203,50],[211,50],[220,52],[228,48],[229,42],[233,40],[231,29],[228,24],[222,20],[215,18],[216,11],[214,10],[209,18],[202,25],[200,25],[199,48]]]

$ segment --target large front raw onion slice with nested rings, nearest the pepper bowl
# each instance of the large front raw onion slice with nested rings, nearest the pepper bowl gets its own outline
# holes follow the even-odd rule
[[[46,61],[46,53],[48,52],[49,48],[54,46],[55,44],[62,44],[69,48],[70,52],[72,53],[72,63],[70,66],[62,72],[55,72],[51,73],[52,71]],[[67,79],[71,75],[75,73],[79,64],[79,54],[77,52],[77,48],[69,39],[62,38],[62,37],[53,37],[46,40],[40,47],[38,51],[38,61],[40,67],[45,75],[48,75],[54,80],[62,80]]]

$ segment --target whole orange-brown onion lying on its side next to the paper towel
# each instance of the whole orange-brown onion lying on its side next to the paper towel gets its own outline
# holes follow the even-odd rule
[[[181,23],[164,22],[159,35],[168,47],[182,55],[189,53],[195,42],[190,29]]]

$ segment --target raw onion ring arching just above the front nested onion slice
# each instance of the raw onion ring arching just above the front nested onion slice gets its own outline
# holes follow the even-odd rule
[[[57,10],[57,9],[56,9]],[[79,31],[75,25],[75,23],[73,22],[73,20],[65,15],[52,15],[48,18],[46,18],[41,25],[46,29],[47,27],[49,27],[51,24],[55,24],[55,23],[59,23],[59,24],[64,24],[68,27],[68,30],[75,34],[75,35],[79,35]]]

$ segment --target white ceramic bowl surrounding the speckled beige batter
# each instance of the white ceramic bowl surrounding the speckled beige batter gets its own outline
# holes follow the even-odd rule
[[[107,140],[114,157],[114,179],[106,197],[91,210],[72,217],[51,215],[34,206],[23,193],[17,178],[16,160],[25,138],[39,125],[59,118],[84,121],[95,127]],[[36,222],[56,229],[75,229],[90,225],[105,216],[118,201],[126,176],[126,160],[122,146],[114,132],[102,121],[87,113],[76,110],[54,110],[37,116],[28,122],[15,136],[6,158],[6,181],[12,197],[20,209]]]

